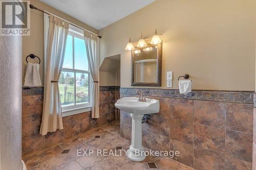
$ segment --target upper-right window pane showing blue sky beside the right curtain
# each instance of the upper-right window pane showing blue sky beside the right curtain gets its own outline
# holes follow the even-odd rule
[[[83,39],[74,37],[75,69],[88,70],[86,46]]]

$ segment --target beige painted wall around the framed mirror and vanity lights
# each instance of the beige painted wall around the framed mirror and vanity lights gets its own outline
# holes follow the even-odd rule
[[[121,87],[131,86],[129,39],[150,36],[157,28],[164,35],[162,87],[166,71],[189,74],[193,89],[254,90],[254,0],[158,0],[100,30],[100,62],[121,55]]]

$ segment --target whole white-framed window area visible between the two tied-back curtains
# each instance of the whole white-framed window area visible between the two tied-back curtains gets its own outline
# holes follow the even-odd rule
[[[83,33],[70,28],[58,82],[62,110],[91,106],[91,82]]]

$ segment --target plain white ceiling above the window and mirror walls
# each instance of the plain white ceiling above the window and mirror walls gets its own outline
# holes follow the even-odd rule
[[[156,0],[40,0],[100,30]],[[40,8],[40,7],[38,7]]]

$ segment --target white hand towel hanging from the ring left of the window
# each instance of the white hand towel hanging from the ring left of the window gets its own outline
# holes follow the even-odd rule
[[[40,85],[41,79],[39,75],[39,64],[28,63],[24,86],[34,87]]]

